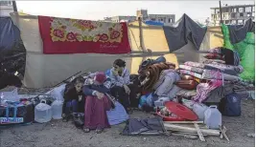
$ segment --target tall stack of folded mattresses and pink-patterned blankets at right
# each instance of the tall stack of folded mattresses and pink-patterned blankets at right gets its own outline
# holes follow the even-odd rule
[[[204,53],[208,54],[204,56],[207,60],[203,63],[188,61],[180,65],[178,70],[181,76],[191,75],[199,81],[197,93],[193,95],[192,91],[181,91],[183,93],[177,95],[189,95],[196,102],[210,105],[219,104],[226,94],[244,93],[242,79],[239,77],[244,69],[240,65],[239,54],[225,48],[211,49]],[[237,85],[236,88],[234,85]]]

